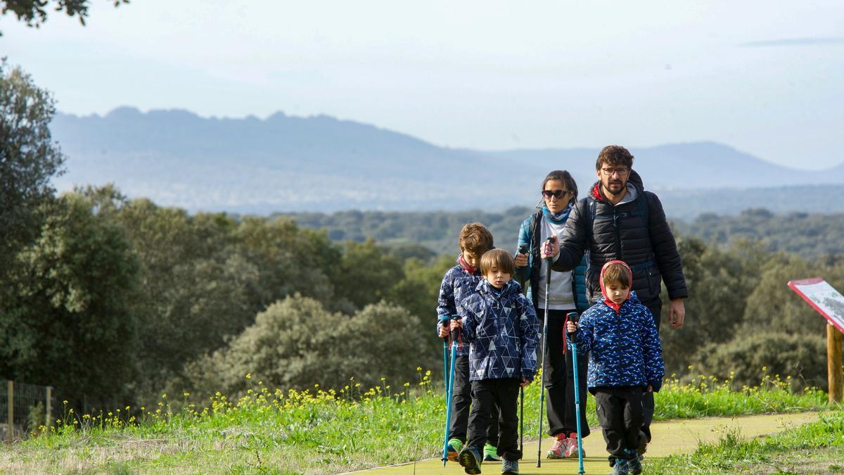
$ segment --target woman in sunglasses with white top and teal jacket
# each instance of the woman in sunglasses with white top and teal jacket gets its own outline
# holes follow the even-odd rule
[[[565,170],[550,172],[542,182],[540,208],[522,222],[519,230],[519,248],[526,254],[516,255],[516,276],[522,287],[529,282],[527,298],[533,302],[536,314],[543,324],[545,318],[545,259],[539,257],[540,246],[551,236],[560,240],[560,235],[569,217],[571,207],[577,201],[577,183],[571,173]],[[541,207],[540,207],[541,205]],[[586,288],[586,263],[584,256],[580,265],[571,272],[551,272],[548,292],[548,347],[542,366],[544,385],[548,389],[548,429],[555,437],[554,445],[548,450],[548,458],[577,456],[577,434],[575,415],[574,372],[571,352],[565,344],[565,316],[569,312],[582,312],[589,308]],[[578,379],[586,380],[588,358],[578,358]],[[586,420],[586,385],[580,385],[581,420]],[[589,434],[586,424],[582,426],[582,437]]]

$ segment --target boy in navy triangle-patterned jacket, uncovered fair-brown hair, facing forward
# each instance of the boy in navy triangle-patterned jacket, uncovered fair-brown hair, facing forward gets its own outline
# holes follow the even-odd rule
[[[522,451],[518,446],[517,403],[519,388],[533,381],[539,322],[522,287],[510,278],[513,257],[493,249],[480,259],[484,281],[477,292],[459,304],[462,320],[452,320],[469,341],[469,380],[472,409],[468,440],[458,460],[467,473],[480,473],[480,450],[486,442],[490,412],[498,407],[498,450],[501,473],[517,475]]]

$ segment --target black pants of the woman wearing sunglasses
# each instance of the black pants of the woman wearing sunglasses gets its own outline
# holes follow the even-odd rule
[[[571,351],[565,349],[565,314],[571,310],[549,310],[548,320],[548,349],[542,364],[545,387],[548,388],[548,434],[571,434],[577,430],[575,416],[575,374],[571,364]],[[545,311],[537,308],[536,315],[539,325],[544,325]],[[565,349],[565,353],[563,353]],[[581,436],[589,435],[589,425],[586,422],[586,377],[589,366],[588,353],[577,355],[577,382],[580,387],[581,401]]]

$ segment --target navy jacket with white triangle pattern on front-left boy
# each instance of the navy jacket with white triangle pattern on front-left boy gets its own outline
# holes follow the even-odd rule
[[[522,295],[517,281],[500,291],[488,281],[463,300],[463,339],[470,342],[469,380],[524,377],[536,373],[539,320],[533,304]]]

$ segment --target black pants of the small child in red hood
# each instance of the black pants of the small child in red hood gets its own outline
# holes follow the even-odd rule
[[[595,389],[598,422],[609,455],[628,459],[625,449],[636,452],[643,419],[642,390],[635,386],[602,386]]]

